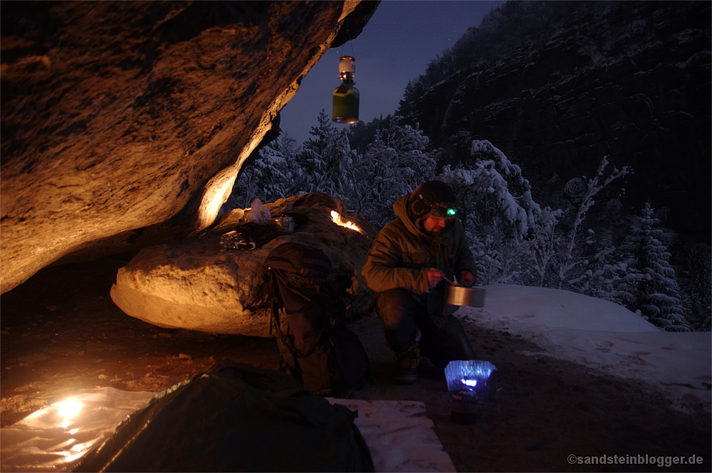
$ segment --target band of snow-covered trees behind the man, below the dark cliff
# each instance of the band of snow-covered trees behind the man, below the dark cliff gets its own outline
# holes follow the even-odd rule
[[[664,211],[648,204],[630,214],[617,198],[634,170],[601,156],[595,175],[572,179],[555,196],[560,206],[543,207],[520,166],[487,140],[473,140],[471,159],[443,165],[417,124],[398,123],[344,128],[321,112],[302,146],[281,133],[258,152],[223,212],[318,191],[379,228],[395,218],[397,198],[439,179],[459,197],[478,284],[568,289],[622,304],[667,331],[710,330],[710,248],[683,245],[673,264],[678,235],[664,227]]]

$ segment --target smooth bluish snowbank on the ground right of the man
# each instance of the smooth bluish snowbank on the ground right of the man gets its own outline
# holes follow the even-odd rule
[[[552,356],[591,371],[646,381],[662,388],[677,408],[703,401],[710,410],[710,332],[666,332],[624,307],[575,292],[517,285],[484,287],[484,307],[456,316],[520,334]]]

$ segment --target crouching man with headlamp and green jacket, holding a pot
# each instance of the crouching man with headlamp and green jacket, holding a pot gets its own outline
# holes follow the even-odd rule
[[[462,325],[445,305],[446,287],[471,287],[475,262],[456,217],[450,186],[429,181],[393,204],[398,216],[384,226],[361,271],[375,292],[386,341],[396,354],[397,383],[413,383],[420,353],[439,368],[452,360],[474,359]]]

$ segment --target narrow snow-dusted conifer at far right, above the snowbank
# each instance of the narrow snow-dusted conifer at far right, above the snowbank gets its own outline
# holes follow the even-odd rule
[[[625,248],[630,260],[649,280],[638,284],[637,304],[640,312],[653,324],[666,331],[689,331],[675,269],[670,265],[670,253],[662,243],[660,220],[653,216],[649,203],[641,218],[631,229]]]

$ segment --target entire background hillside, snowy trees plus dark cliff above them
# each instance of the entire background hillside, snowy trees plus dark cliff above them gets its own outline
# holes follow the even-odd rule
[[[479,284],[567,289],[666,331],[709,331],[708,8],[508,1],[434,58],[393,116],[344,128],[322,111],[303,144],[281,133],[223,211],[320,191],[379,228],[397,198],[440,179]]]

